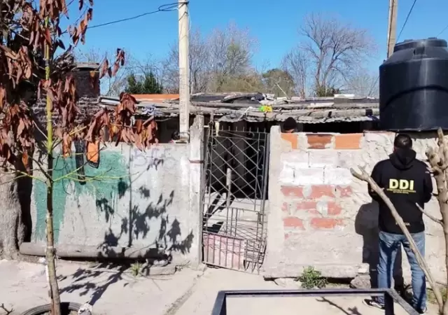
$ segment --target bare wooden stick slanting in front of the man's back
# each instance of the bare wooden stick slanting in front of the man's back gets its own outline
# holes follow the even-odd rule
[[[393,205],[391,200],[386,196],[386,194],[384,194],[384,191],[381,188],[379,188],[379,186],[377,185],[377,183],[375,183],[375,181],[372,179],[372,177],[370,177],[370,175],[367,174],[367,172],[365,172],[365,168],[359,167],[359,169],[361,170],[361,174],[357,173],[354,169],[350,169],[350,172],[353,176],[355,176],[360,181],[367,182],[370,185],[370,188],[372,188],[372,190],[374,190],[374,192],[377,193],[379,195],[379,197],[381,197],[381,199],[384,201],[384,203],[387,205],[387,207],[389,209],[391,209],[393,218],[395,219],[398,226],[400,226],[400,229],[404,233],[407,241],[409,241],[409,246],[415,255],[417,263],[423,270],[423,273],[425,274],[426,279],[428,279],[428,282],[434,291],[435,299],[437,300],[437,304],[439,304],[439,312],[440,312],[440,314],[443,314],[442,313],[442,311],[443,311],[442,293],[440,293],[440,289],[437,286],[437,283],[435,282],[435,280],[433,278],[433,274],[431,274],[429,271],[429,268],[428,268],[428,265],[426,264],[425,258],[423,258],[423,256],[421,255],[419,249],[417,248],[417,246],[415,244],[414,239],[412,238],[411,233],[409,233],[409,231],[407,230],[405,222],[401,218],[400,214],[398,214],[398,211],[397,211],[397,209],[395,209],[395,206]]]

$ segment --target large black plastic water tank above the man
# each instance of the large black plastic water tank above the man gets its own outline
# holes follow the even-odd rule
[[[379,66],[382,130],[448,130],[447,41],[403,41]]]

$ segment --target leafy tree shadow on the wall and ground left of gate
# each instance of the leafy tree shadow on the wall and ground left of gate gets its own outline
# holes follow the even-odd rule
[[[142,200],[148,200],[147,206],[141,209],[139,204],[134,204],[132,194],[138,194],[134,197],[139,197],[137,198],[139,204],[142,203]],[[173,253],[189,253],[195,235],[193,235],[193,231],[190,231],[186,237],[181,238],[181,222],[177,218],[169,216],[168,209],[173,205],[174,195],[174,190],[172,190],[167,195],[160,194],[154,198],[151,195],[151,190],[145,186],[132,190],[132,182],[120,179],[118,181],[118,199],[129,197],[129,209],[127,209],[127,216],[121,218],[119,232],[114,232],[110,227],[104,234],[104,241],[98,246],[97,258],[105,262],[92,268],[78,268],[71,275],[59,276],[59,281],[71,282],[68,286],[62,287],[60,293],[78,292],[81,296],[90,295],[89,303],[94,305],[109,286],[118,282],[123,282],[123,286],[127,286],[130,282],[126,280],[130,262],[144,261],[140,274],[151,276],[153,267],[169,265],[172,262]],[[109,225],[112,218],[118,215],[116,207],[116,203],[110,202],[104,197],[97,200],[97,208],[104,215],[105,223],[109,223]],[[158,225],[154,225],[157,222],[154,219],[159,222]],[[151,229],[158,229],[155,239],[148,239],[150,244],[144,248],[135,246],[134,250],[132,248],[134,241],[147,239]],[[121,241],[123,237],[125,237],[125,246]],[[130,255],[132,259],[129,258]],[[118,259],[118,262],[106,262],[110,258]]]

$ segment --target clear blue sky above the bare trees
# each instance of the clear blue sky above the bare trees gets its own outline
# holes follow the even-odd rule
[[[170,0],[95,0],[91,25],[119,20],[157,10]],[[78,1],[76,1],[78,2]],[[398,32],[405,21],[413,0],[400,0]],[[74,11],[71,11],[72,14]],[[370,64],[375,69],[386,55],[388,0],[191,0],[191,27],[207,34],[215,27],[225,27],[230,21],[248,27],[258,38],[259,49],[254,64],[277,66],[281,57],[299,41],[297,28],[307,13],[320,12],[339,15],[344,22],[369,29],[379,45],[379,54]],[[447,0],[417,0],[400,41],[407,38],[436,36],[447,24]],[[98,27],[87,31],[86,45],[81,50],[96,48],[113,50],[120,47],[132,55],[145,58],[165,57],[169,45],[177,38],[177,12],[164,12]],[[441,38],[448,38],[448,30]]]

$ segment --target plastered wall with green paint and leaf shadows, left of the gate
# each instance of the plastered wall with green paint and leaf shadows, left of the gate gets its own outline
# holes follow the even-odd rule
[[[57,158],[54,179],[58,244],[158,248],[188,259],[198,247],[199,218],[189,211],[190,145],[159,144],[145,152],[120,144],[100,153],[98,168],[85,165],[81,185],[69,177],[74,158]],[[66,176],[66,178],[64,178]],[[45,241],[46,186],[34,181],[32,240]]]

